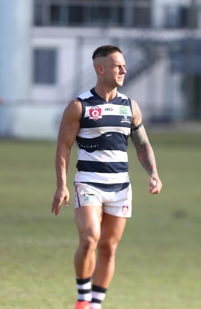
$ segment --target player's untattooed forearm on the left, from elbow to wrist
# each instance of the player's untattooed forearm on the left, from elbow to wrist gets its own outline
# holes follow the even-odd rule
[[[71,150],[63,143],[58,143],[55,159],[57,186],[66,186],[66,177]]]

